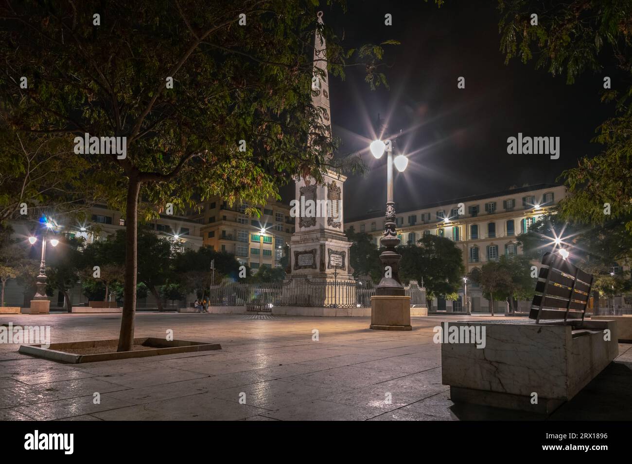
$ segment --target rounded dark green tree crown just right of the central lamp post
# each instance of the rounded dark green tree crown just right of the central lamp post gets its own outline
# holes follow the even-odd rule
[[[402,255],[399,277],[416,279],[426,287],[428,299],[456,293],[463,283],[462,251],[453,241],[437,235],[423,235],[417,245],[399,246]]]

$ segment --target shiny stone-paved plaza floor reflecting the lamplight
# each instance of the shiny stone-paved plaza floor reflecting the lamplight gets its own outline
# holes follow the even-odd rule
[[[2,344],[0,420],[543,419],[451,402],[432,340],[446,319],[374,331],[369,318],[140,313],[137,337],[173,330],[222,350],[74,365]],[[52,343],[104,340],[118,338],[120,315],[0,315],[9,322],[49,325]],[[631,348],[620,344],[617,360],[549,419],[632,419]]]

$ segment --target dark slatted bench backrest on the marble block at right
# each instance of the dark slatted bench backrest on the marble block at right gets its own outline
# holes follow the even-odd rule
[[[561,256],[546,253],[535,285],[530,319],[563,319],[583,322],[593,276]]]

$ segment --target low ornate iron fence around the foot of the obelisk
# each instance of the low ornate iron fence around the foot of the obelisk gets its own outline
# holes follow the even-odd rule
[[[283,282],[241,283],[224,280],[210,287],[209,306],[324,306],[370,307],[375,284],[368,278],[325,280],[290,277]],[[404,286],[411,306],[425,306],[425,288],[416,280]]]

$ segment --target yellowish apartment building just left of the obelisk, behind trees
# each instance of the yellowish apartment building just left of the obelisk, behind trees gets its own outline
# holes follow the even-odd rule
[[[257,207],[260,216],[246,215],[246,202],[229,205],[217,197],[200,205],[188,217],[201,225],[204,246],[233,253],[241,264],[257,271],[262,266],[281,267],[285,245],[295,232],[289,206],[270,200]]]

